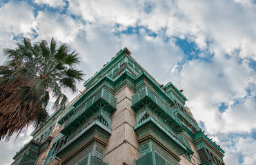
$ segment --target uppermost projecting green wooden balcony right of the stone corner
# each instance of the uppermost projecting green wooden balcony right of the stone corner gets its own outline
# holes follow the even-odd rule
[[[155,96],[155,94],[148,89],[148,87],[144,87],[141,91],[137,92],[134,96],[132,96],[132,108],[140,109],[141,107],[145,107],[145,102],[148,107],[151,107],[157,113],[161,114],[161,118],[164,118],[166,122],[173,124],[177,132],[181,132],[183,129],[181,126],[181,122],[177,115],[170,110],[168,105],[161,98]]]

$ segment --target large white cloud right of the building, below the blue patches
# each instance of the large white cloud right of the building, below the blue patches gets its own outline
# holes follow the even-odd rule
[[[247,90],[255,90],[256,74],[248,69],[248,63],[238,63],[235,57],[213,58],[211,62],[189,61],[179,71],[173,68],[169,77],[190,100],[187,104],[197,120],[206,122],[209,132],[250,132],[256,122],[255,100],[247,96]],[[237,102],[239,100],[239,102]],[[228,105],[223,114],[218,104]],[[237,122],[237,120],[239,120]]]

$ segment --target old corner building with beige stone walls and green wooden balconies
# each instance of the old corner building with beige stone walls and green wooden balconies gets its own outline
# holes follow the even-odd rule
[[[224,165],[224,151],[201,131],[182,90],[159,85],[128,49],[84,87],[32,132],[13,165]]]

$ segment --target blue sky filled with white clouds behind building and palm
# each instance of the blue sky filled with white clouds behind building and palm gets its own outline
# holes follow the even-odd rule
[[[78,69],[88,79],[128,47],[160,84],[184,90],[201,129],[226,152],[226,164],[255,165],[255,20],[255,0],[1,0],[0,65],[3,48],[23,37],[54,36],[79,52]],[[31,131],[15,143],[15,137],[0,142],[1,164],[11,164]]]

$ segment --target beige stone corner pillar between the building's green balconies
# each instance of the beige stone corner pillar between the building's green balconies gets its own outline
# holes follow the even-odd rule
[[[133,131],[136,116],[130,107],[133,95],[129,87],[115,94],[117,111],[111,117],[112,135],[108,138],[104,157],[104,162],[109,162],[109,165],[132,165],[139,158],[138,137]]]

